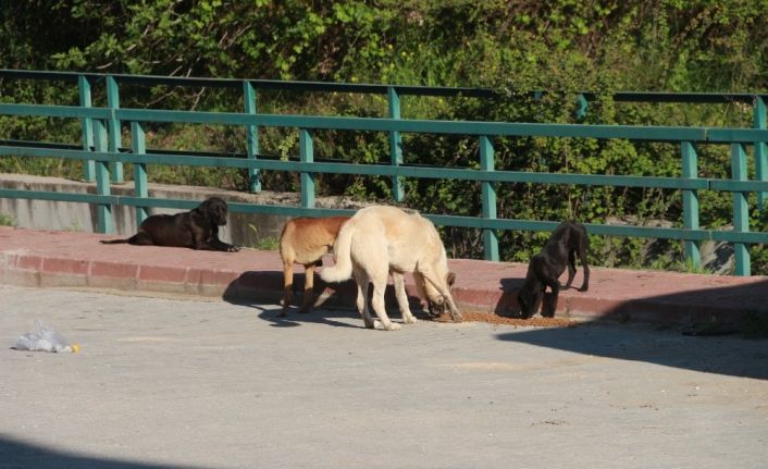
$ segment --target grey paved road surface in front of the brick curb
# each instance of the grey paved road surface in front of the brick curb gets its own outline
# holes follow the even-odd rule
[[[765,468],[768,341],[0,285],[0,468]],[[397,318],[397,317],[396,317]],[[77,354],[12,349],[39,319]],[[397,318],[399,320],[399,318]]]

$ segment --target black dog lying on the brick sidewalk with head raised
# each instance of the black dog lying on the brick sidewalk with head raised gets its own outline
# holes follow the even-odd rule
[[[138,233],[127,239],[101,243],[174,246],[235,252],[240,248],[219,239],[219,226],[226,224],[227,213],[226,202],[219,197],[211,197],[188,212],[147,218],[139,226]]]

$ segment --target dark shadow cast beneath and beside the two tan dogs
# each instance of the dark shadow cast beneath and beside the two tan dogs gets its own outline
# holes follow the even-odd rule
[[[349,280],[340,284],[327,284],[318,275],[314,277],[314,303],[317,306],[310,312],[299,312],[299,305],[304,297],[305,274],[294,275],[293,298],[290,308],[285,317],[280,317],[283,310],[283,272],[277,271],[248,271],[227,285],[222,298],[233,305],[250,307],[259,310],[258,317],[269,321],[275,328],[293,328],[302,323],[326,324],[338,328],[361,328],[362,318],[357,312],[355,301],[357,287],[355,281]],[[369,301],[372,292],[369,292]],[[407,287],[408,300],[411,312],[419,319],[424,318],[421,300],[410,286]],[[399,320],[395,292],[387,285],[384,303],[391,319]],[[265,307],[265,304],[269,305]],[[373,311],[371,314],[375,316]],[[352,320],[342,321],[339,319]]]

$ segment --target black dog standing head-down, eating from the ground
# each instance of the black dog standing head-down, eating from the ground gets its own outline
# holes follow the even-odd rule
[[[542,316],[554,317],[557,308],[557,296],[560,293],[558,277],[568,268],[568,282],[566,289],[570,288],[575,275],[575,252],[584,270],[584,283],[579,292],[586,292],[590,287],[590,267],[586,264],[586,249],[590,239],[586,229],[581,223],[563,222],[553,232],[541,252],[531,258],[528,266],[525,282],[518,292],[520,314],[530,318],[536,313],[544,298],[544,289],[552,289],[549,299],[544,300]]]

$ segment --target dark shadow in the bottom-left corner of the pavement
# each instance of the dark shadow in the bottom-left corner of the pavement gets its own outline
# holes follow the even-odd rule
[[[189,468],[188,465],[166,465],[139,462],[126,459],[107,458],[54,449],[37,443],[23,442],[0,434],[0,466],[36,469],[60,468],[111,468],[111,469],[171,469]],[[198,466],[202,468],[202,466]]]

